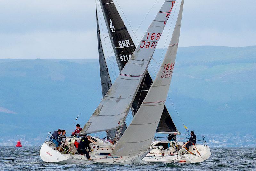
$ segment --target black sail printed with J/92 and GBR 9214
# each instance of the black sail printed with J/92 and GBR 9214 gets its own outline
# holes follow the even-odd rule
[[[172,2],[172,5],[175,1]],[[135,49],[135,45],[132,38],[119,15],[113,0],[100,0],[101,8],[103,11],[104,19],[107,25],[110,40],[114,48],[116,60],[118,63],[119,71],[122,71],[127,61],[132,56]],[[173,6],[172,6],[173,7]],[[172,8],[168,11],[170,12]],[[166,13],[169,15],[170,13]],[[152,78],[148,71],[145,74],[145,80],[140,85],[139,92],[137,92],[135,99],[132,103],[133,113],[136,114],[140,108],[142,101],[146,97],[150,86],[152,85]],[[175,124],[172,121],[171,116],[167,108],[164,106],[159,126],[156,130],[159,133],[178,133]]]

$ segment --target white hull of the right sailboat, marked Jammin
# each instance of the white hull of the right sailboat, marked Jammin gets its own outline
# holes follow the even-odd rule
[[[163,141],[163,142],[157,141],[152,144],[156,145],[159,143],[164,144],[164,143],[168,143],[168,141]],[[178,142],[178,144],[183,145],[182,142]],[[176,142],[175,142],[175,145],[176,145]],[[142,160],[145,162],[162,162],[162,163],[200,163],[208,159],[211,155],[210,148],[204,145],[196,144],[195,146],[190,146],[189,151],[195,154],[196,156],[192,155],[189,152],[184,155],[179,155],[177,151],[174,152],[174,148],[175,146],[164,150],[162,146],[153,146],[153,150],[149,152]],[[198,150],[198,152],[196,149]]]

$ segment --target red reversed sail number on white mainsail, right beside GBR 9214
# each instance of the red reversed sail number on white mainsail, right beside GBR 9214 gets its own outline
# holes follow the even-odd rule
[[[147,40],[142,40],[140,48],[146,48],[146,49],[156,48],[156,45],[158,43],[158,40],[159,40],[161,34],[162,33],[151,33],[151,34],[148,33],[147,38],[146,38],[148,41]],[[154,40],[156,40],[156,41],[154,41]]]

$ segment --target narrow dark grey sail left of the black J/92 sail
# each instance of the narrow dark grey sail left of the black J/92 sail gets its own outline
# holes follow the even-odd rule
[[[108,90],[111,87],[112,83],[108,73],[108,67],[106,64],[106,60],[105,60],[105,56],[102,48],[102,42],[100,38],[100,27],[99,27],[98,14],[97,14],[97,4],[96,4],[96,20],[97,20],[97,38],[98,38],[98,52],[99,52],[99,63],[100,63],[101,89],[102,89],[102,97],[104,97],[108,93]],[[123,135],[126,128],[127,126],[126,124],[124,124],[120,135]],[[109,130],[106,132],[107,132],[107,139],[114,140],[117,130]]]

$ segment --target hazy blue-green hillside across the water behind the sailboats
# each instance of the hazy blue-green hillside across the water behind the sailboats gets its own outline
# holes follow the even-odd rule
[[[153,58],[159,62],[165,50],[156,49]],[[114,80],[112,70],[117,67],[112,58],[107,62]],[[151,64],[156,70],[157,63],[152,60]],[[148,69],[152,78],[153,68],[150,65]],[[255,134],[251,132],[256,123],[255,73],[256,46],[179,48],[169,97],[190,130],[201,134]],[[2,134],[73,130],[72,124],[87,101],[90,99],[76,121],[81,125],[101,98],[97,59],[0,59]],[[176,126],[184,132],[169,99],[166,105]]]

